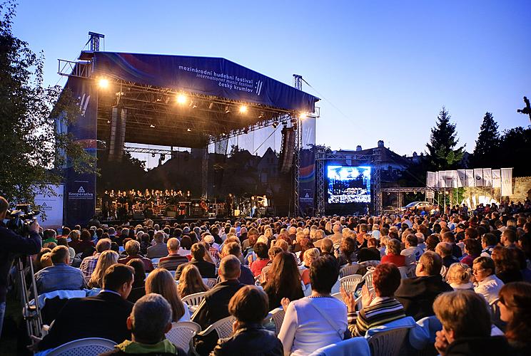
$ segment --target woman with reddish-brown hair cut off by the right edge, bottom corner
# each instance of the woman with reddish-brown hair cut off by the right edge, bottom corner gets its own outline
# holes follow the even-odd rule
[[[518,355],[531,355],[531,283],[513,282],[500,289],[500,319],[505,337]]]

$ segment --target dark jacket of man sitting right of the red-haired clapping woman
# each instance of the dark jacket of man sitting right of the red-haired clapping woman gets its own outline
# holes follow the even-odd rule
[[[415,320],[433,313],[433,301],[442,292],[450,292],[453,288],[440,275],[406,278],[400,281],[395,298],[404,305],[405,315]]]

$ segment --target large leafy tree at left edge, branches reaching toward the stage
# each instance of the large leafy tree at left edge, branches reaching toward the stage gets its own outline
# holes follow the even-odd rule
[[[71,93],[44,88],[44,56],[11,31],[16,5],[0,4],[0,195],[33,203],[38,193],[59,184],[69,159],[74,169],[95,169],[95,160],[55,124],[72,125],[79,107]],[[53,117],[56,117],[54,119]]]

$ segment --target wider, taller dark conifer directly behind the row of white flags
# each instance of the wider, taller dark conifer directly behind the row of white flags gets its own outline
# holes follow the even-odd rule
[[[455,124],[450,122],[450,113],[443,106],[437,117],[435,127],[431,129],[428,147],[430,169],[444,170],[457,168],[463,156],[465,146],[455,148],[459,140]]]

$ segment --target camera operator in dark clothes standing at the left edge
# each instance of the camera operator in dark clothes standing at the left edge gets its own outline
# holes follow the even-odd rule
[[[16,234],[6,228],[6,219],[9,203],[0,197],[0,335],[6,312],[7,279],[16,253],[34,255],[41,251],[41,236],[39,236],[39,223],[34,220],[29,226],[29,237]]]

